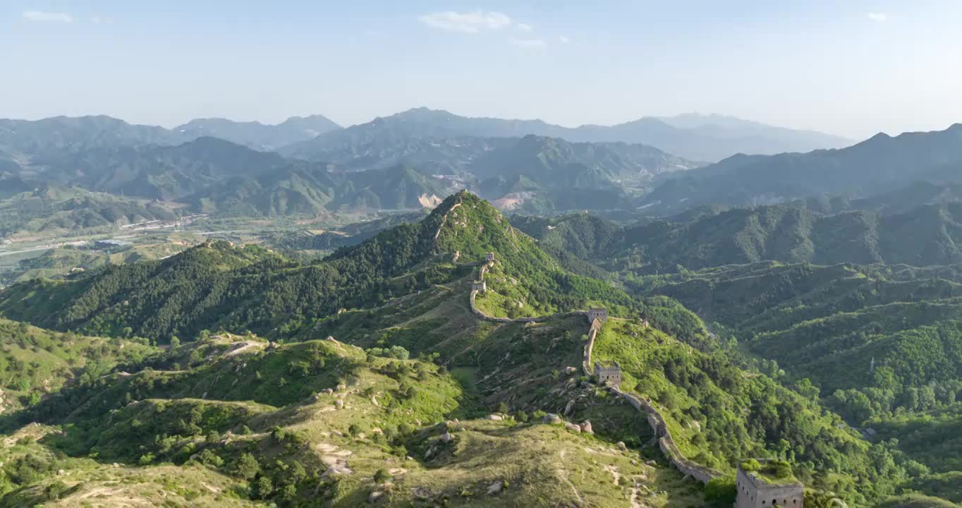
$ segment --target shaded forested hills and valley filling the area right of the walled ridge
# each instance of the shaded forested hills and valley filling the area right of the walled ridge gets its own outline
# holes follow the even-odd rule
[[[872,204],[883,202],[894,201]],[[903,488],[958,502],[951,454],[921,445],[954,446],[962,394],[958,202],[833,211],[855,205],[870,208],[815,200],[629,226],[585,214],[516,223],[566,267],[678,300],[736,363],[822,401],[873,443],[898,444],[916,463]]]

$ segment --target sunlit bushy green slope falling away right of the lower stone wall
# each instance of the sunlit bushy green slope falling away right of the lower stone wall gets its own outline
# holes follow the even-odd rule
[[[796,472],[809,485],[865,502],[863,483],[879,479],[864,468],[868,443],[837,428],[837,416],[823,415],[819,405],[764,375],[617,318],[598,334],[594,354],[620,362],[622,389],[655,402],[675,444],[700,464],[733,471],[744,457],[773,458],[787,440]]]

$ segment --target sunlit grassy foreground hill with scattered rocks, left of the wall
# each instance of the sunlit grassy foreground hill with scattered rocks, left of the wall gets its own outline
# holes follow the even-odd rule
[[[405,506],[416,500],[416,494],[439,500],[447,497],[449,504],[465,506],[554,506],[562,501],[627,506],[636,481],[637,495],[645,495],[651,506],[699,505],[701,492],[696,483],[683,481],[676,471],[663,465],[644,464],[649,455],[622,452],[612,445],[613,438],[606,437],[611,434],[604,431],[607,426],[604,415],[621,413],[623,418],[628,418],[637,413],[620,406],[611,407],[608,400],[586,403],[576,415],[596,422],[597,437],[572,434],[558,426],[523,424],[511,418],[500,421],[480,418],[488,414],[484,406],[494,405],[500,397],[513,393],[502,387],[495,397],[483,395],[498,373],[480,374],[492,368],[495,359],[503,358],[504,344],[527,341],[540,349],[557,343],[557,334],[584,327],[583,323],[568,321],[543,326],[546,328],[538,331],[520,326],[496,330],[491,337],[476,344],[479,354],[465,352],[456,357],[475,366],[472,368],[485,379],[474,380],[476,385],[470,382],[471,376],[461,375],[464,370],[456,369],[455,375],[415,360],[366,359],[360,348],[344,343],[293,343],[268,350],[266,343],[256,338],[218,336],[171,351],[165,361],[150,364],[153,370],[105,378],[92,390],[78,394],[79,398],[65,393],[63,397],[70,402],[60,412],[66,412],[66,419],[49,415],[44,418],[69,424],[63,427],[62,435],[51,435],[42,443],[78,457],[95,451],[98,460],[108,464],[144,461],[141,468],[133,468],[142,470],[144,475],[164,467],[160,466],[164,461],[203,463],[207,458],[195,454],[209,449],[224,463],[216,466],[208,461],[211,471],[205,474],[215,474],[218,478],[219,474],[226,474],[224,480],[218,481],[235,484],[241,481],[235,472],[239,457],[251,453],[260,460],[262,475],[272,478],[278,489],[289,481],[291,472],[279,469],[275,461],[288,465],[297,462],[308,475],[292,483],[295,496],[288,499],[275,497],[281,494],[271,495],[285,505],[296,504],[296,499],[308,499],[312,493],[319,492],[336,506],[356,506],[377,491],[385,493],[382,498],[392,506]],[[236,349],[244,345],[246,349]],[[536,392],[539,386],[544,387],[544,392],[552,387],[565,387],[570,377],[552,375],[551,370],[575,362],[580,339],[575,338],[567,345],[559,344],[561,346],[561,351],[565,351],[562,356],[553,351],[544,351],[544,356],[536,358],[518,355],[510,370],[537,372],[523,384]],[[496,357],[492,352],[494,348],[498,350]],[[235,350],[240,352],[231,354]],[[190,364],[191,356],[198,356],[194,351],[200,352],[201,364],[183,372],[170,370],[174,367],[183,370]],[[291,373],[299,372],[302,363],[315,364],[319,357],[325,362],[316,373],[306,377]],[[468,362],[468,358],[479,359],[480,364]],[[552,362],[554,358],[558,360]],[[367,360],[372,363],[368,364]],[[539,362],[549,365],[530,368]],[[410,373],[393,374],[389,365],[399,363],[411,367]],[[502,377],[498,379],[504,382],[503,372],[508,366],[502,364],[501,367]],[[271,382],[257,382],[258,372],[262,379]],[[333,372],[337,375],[329,377]],[[215,382],[221,378],[239,381]],[[276,384],[281,378],[287,379],[284,387]],[[465,380],[468,385],[457,379]],[[344,386],[339,388],[339,383]],[[333,393],[323,393],[324,388],[332,388]],[[310,395],[318,391],[321,393]],[[188,398],[199,397],[202,392],[207,398]],[[132,402],[125,404],[125,398],[119,396],[122,393],[135,394]],[[307,395],[301,396],[304,393]],[[514,393],[529,395],[527,391]],[[548,403],[552,406],[539,407],[557,410],[554,405],[564,405],[563,398],[553,399],[556,401],[527,398],[513,406],[533,410],[535,404]],[[110,407],[116,406],[118,411],[108,412],[108,406],[98,402],[101,400],[109,401]],[[44,404],[52,411],[59,407],[53,399]],[[99,418],[103,414],[110,416],[106,420]],[[452,418],[459,418],[457,423],[446,425],[454,440],[443,444],[440,442],[445,427],[443,421]],[[244,425],[250,429],[249,433],[242,428]],[[272,433],[278,426],[284,429],[286,437]],[[620,431],[614,422],[609,430]],[[212,431],[216,434],[212,435]],[[162,437],[158,440],[155,435]],[[399,444],[406,446],[400,455],[395,451]],[[425,455],[431,448],[439,451],[427,458]],[[147,454],[150,459],[141,458]],[[414,460],[405,460],[405,455]],[[314,479],[327,469],[330,461],[338,458],[345,459],[352,472],[339,476],[340,481],[336,483]],[[73,464],[80,465],[79,462],[71,462]],[[74,467],[105,470],[92,461]],[[121,468],[125,472],[128,469]],[[371,476],[382,469],[391,471],[391,480],[385,485],[373,483]],[[71,469],[69,474],[86,473]],[[621,475],[626,479],[619,484]],[[111,479],[122,484],[122,478],[112,476]],[[508,483],[503,494],[486,494],[490,485],[504,480]],[[54,478],[47,476],[29,484],[27,490],[38,491],[38,486],[52,481]],[[235,490],[241,497],[246,496],[244,488]]]

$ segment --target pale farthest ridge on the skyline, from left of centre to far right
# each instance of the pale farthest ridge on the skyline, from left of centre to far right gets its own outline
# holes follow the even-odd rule
[[[722,124],[702,123],[689,127],[671,125],[671,119],[643,117],[618,125],[582,125],[570,128],[543,120],[468,117],[441,110],[415,108],[353,125],[346,131],[364,132],[391,128],[418,137],[479,136],[485,138],[536,135],[572,142],[626,142],[646,144],[695,161],[719,161],[737,153],[774,154],[848,146],[850,140],[811,131],[772,127],[747,120],[727,118]],[[707,117],[713,121],[715,116]],[[737,121],[736,121],[737,120]],[[734,125],[737,125],[736,130]],[[722,134],[720,134],[720,132]],[[322,152],[336,143],[337,136],[295,143],[288,155]]]

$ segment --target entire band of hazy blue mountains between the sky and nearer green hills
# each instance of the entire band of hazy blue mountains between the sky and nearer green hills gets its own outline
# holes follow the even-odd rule
[[[832,148],[846,141],[701,114],[573,129],[425,108],[347,128],[321,115],[277,125],[197,119],[173,130],[108,116],[54,117],[0,120],[0,171],[11,183],[7,194],[56,183],[185,202],[194,212],[219,214],[316,214],[343,206],[416,209],[436,203],[445,192],[468,188],[506,210],[637,209],[671,215],[707,204],[750,206],[812,195],[862,198],[915,180],[955,183],[962,162],[960,132],[955,125]],[[716,164],[663,148],[696,153],[721,143],[717,146],[732,152],[747,140],[756,143],[747,149],[755,154]],[[700,148],[681,148],[695,146],[691,143]],[[821,148],[761,155],[812,146]],[[372,169],[384,178],[350,176]],[[379,185],[382,181],[398,185],[398,191]]]

